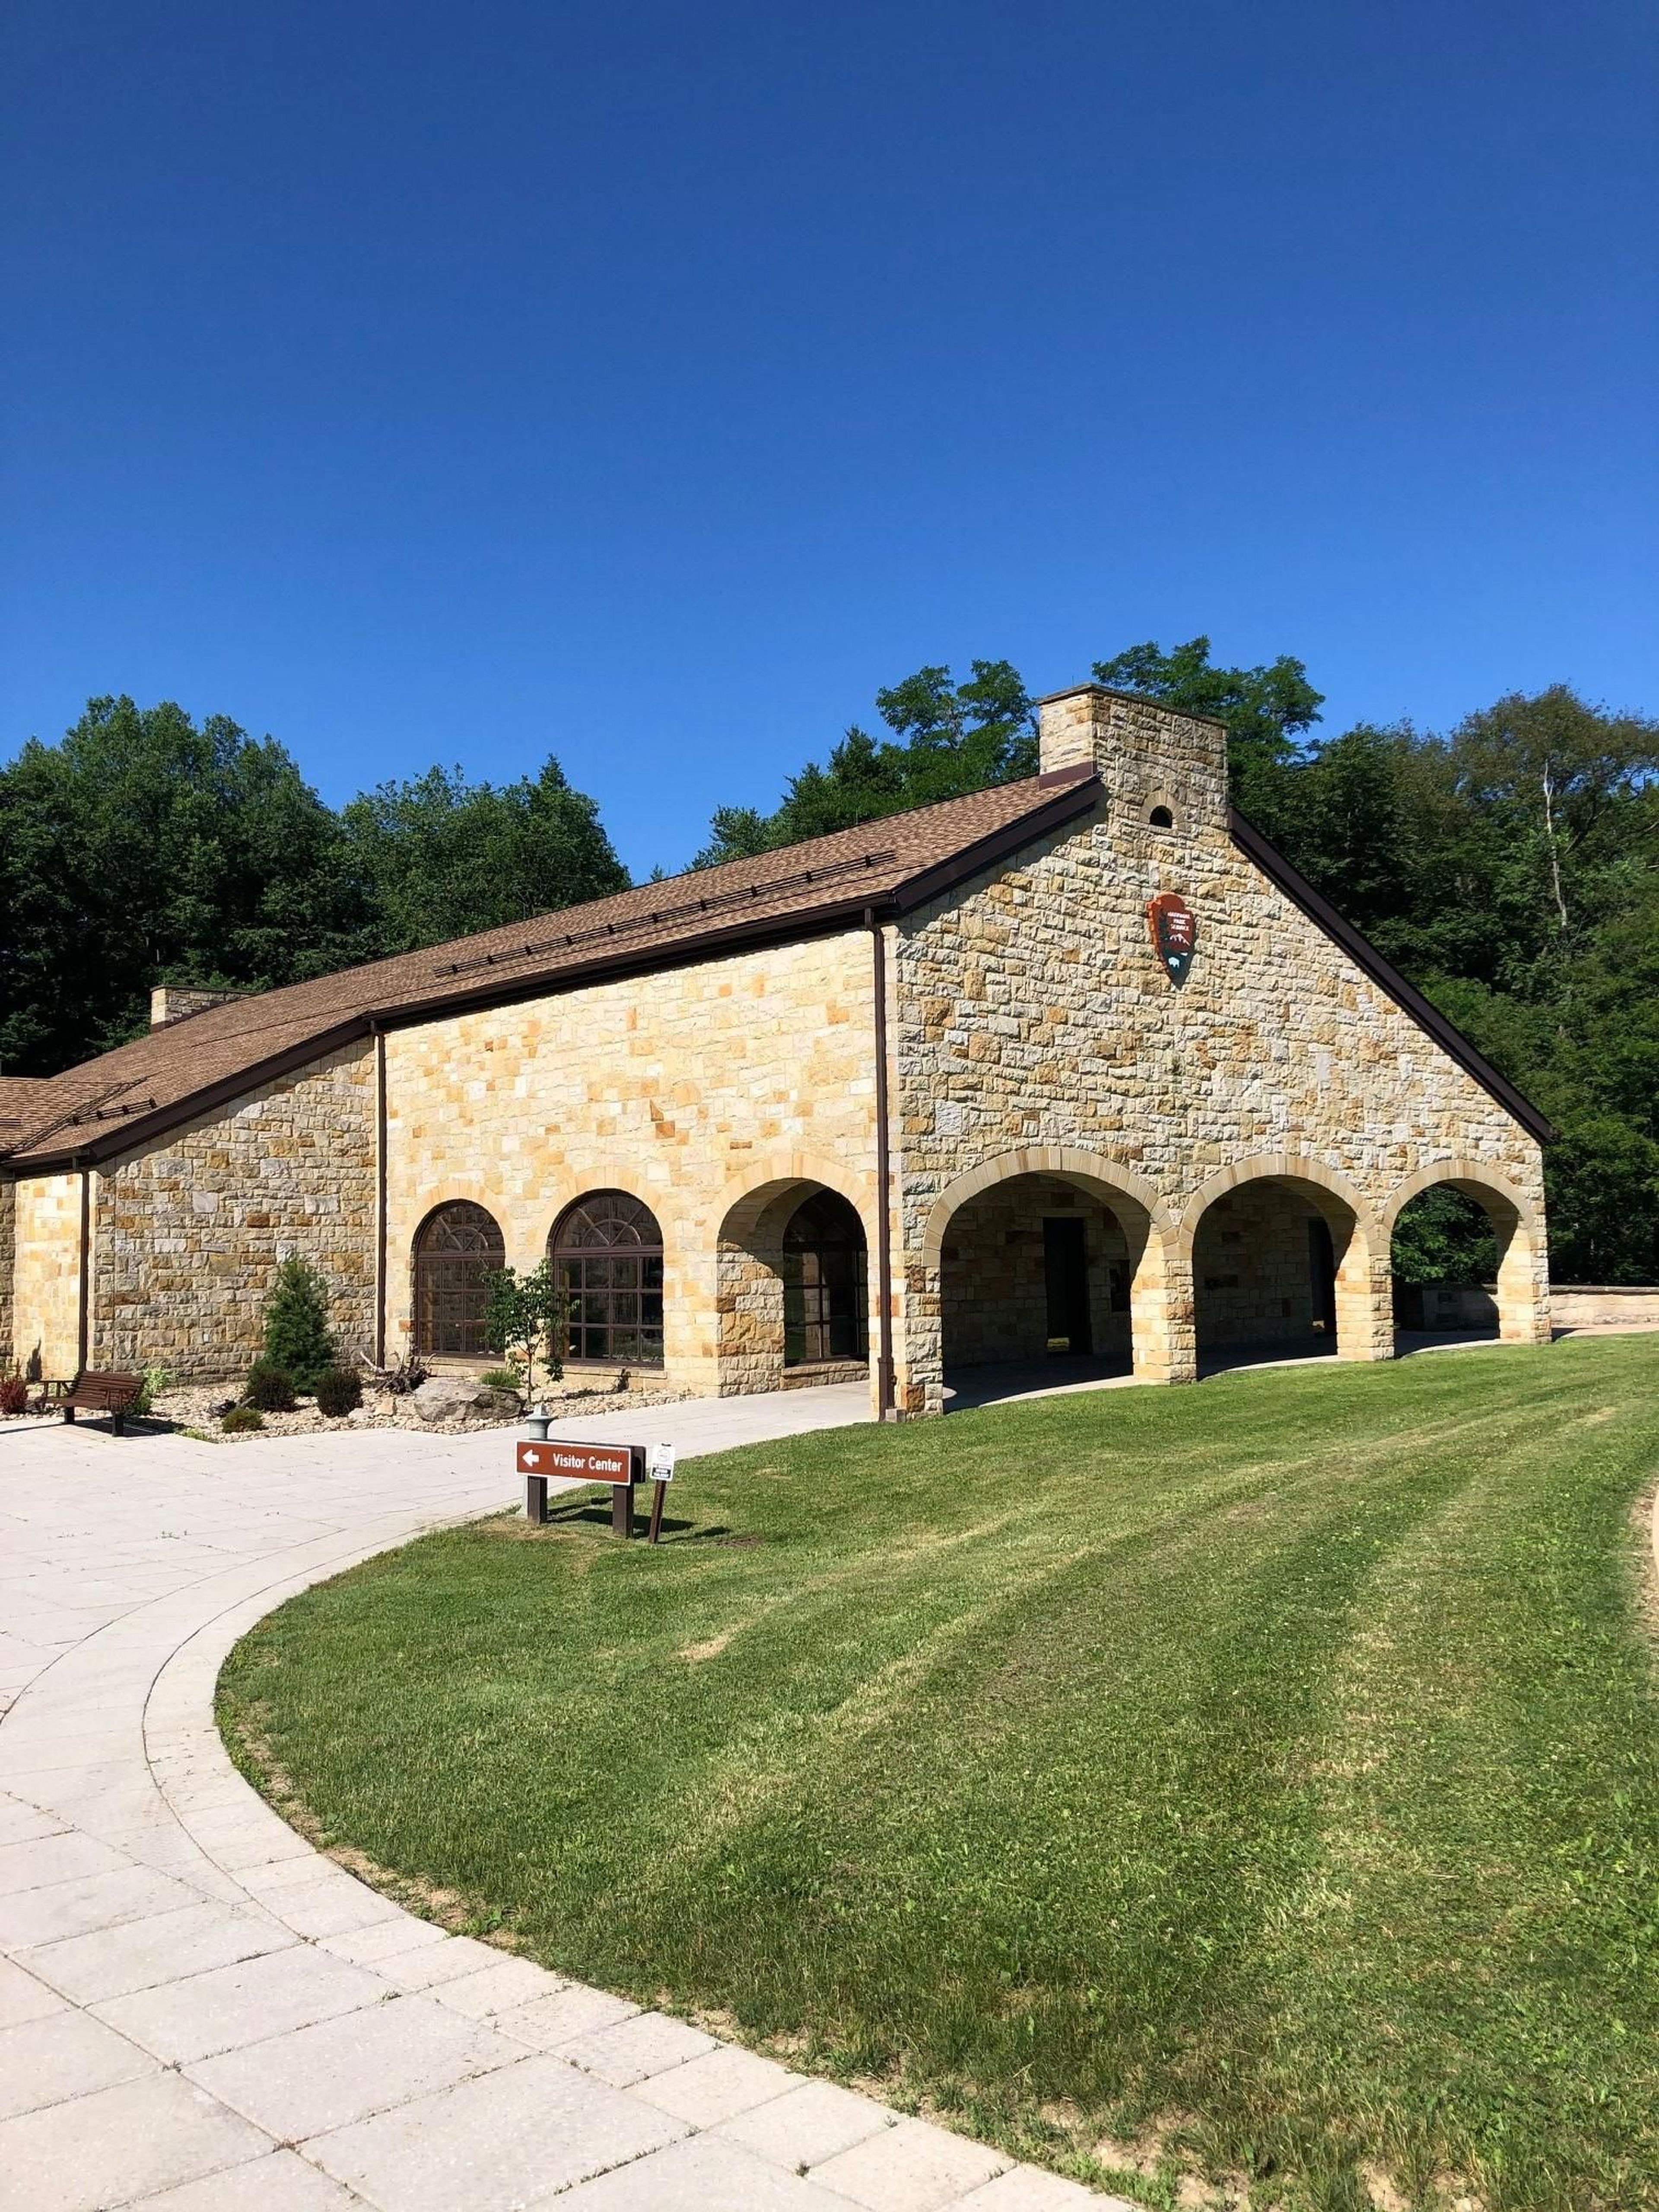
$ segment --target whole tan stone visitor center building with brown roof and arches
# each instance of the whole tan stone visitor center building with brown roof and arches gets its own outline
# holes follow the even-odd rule
[[[279,1259],[345,1345],[730,1394],[1394,1352],[1389,1230],[1486,1208],[1548,1338],[1544,1119],[1228,805],[1217,723],[1084,686],[1042,774],[250,998],[0,1084],[0,1363],[246,1367]]]

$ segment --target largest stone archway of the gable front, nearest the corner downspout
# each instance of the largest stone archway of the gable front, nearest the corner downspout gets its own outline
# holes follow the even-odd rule
[[[1148,1383],[1188,1380],[1190,1290],[1177,1225],[1135,1168],[1024,1146],[956,1177],[922,1228],[907,1298],[905,1402],[938,1411],[945,1365],[1075,1356],[1077,1338]],[[1062,1316],[1073,1316],[1062,1325]]]

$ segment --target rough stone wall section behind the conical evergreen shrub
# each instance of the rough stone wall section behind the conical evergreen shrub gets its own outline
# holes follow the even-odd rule
[[[252,1091],[97,1177],[93,1365],[246,1371],[281,1259],[330,1285],[343,1345],[374,1343],[374,1053]]]

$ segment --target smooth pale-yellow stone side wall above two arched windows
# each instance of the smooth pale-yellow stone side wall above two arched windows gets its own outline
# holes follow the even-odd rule
[[[664,1365],[686,1389],[783,1374],[776,1234],[812,1183],[874,1217],[865,931],[732,953],[392,1031],[387,1345],[414,1329],[414,1245],[451,1199],[533,1267],[564,1208],[628,1190],[664,1232]]]

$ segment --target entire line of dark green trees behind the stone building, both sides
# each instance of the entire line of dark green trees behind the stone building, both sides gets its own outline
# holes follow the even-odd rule
[[[1239,807],[1555,1121],[1557,1281],[1659,1281],[1659,723],[1553,686],[1449,732],[1316,737],[1298,659],[1221,668],[1203,637],[1095,677],[1225,721]],[[692,865],[1035,772],[1009,661],[920,668],[876,712],[883,737],[847,730],[772,812],[717,810]],[[153,982],[296,982],[626,883],[553,759],[332,810],[274,739],[95,699],[0,770],[0,1066],[46,1075],[139,1033]]]

